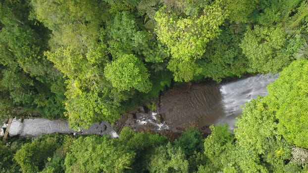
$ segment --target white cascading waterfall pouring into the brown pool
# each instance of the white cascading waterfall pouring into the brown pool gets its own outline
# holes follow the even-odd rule
[[[230,129],[234,129],[236,117],[241,114],[242,106],[258,95],[267,94],[266,86],[278,78],[276,75],[256,75],[246,79],[241,79],[228,84],[220,85],[221,104],[224,109],[224,116],[217,119],[216,125],[228,123]]]

